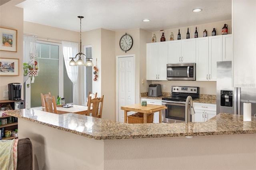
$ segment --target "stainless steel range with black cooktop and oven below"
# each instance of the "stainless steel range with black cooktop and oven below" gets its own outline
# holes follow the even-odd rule
[[[185,122],[185,105],[188,96],[193,100],[199,99],[199,87],[172,86],[172,96],[162,98],[162,105],[167,107],[162,111],[162,122]],[[188,116],[188,122],[191,122],[191,115]]]

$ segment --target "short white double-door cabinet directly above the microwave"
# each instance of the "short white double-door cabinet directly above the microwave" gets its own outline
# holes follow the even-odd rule
[[[196,38],[168,41],[168,63],[195,63]]]

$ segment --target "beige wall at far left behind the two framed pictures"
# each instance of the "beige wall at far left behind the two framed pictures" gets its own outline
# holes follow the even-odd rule
[[[20,2],[22,1],[19,1],[18,3]],[[18,3],[8,2],[0,6],[0,26],[18,30],[17,52],[0,51],[0,57],[19,59],[20,74],[19,76],[0,76],[0,100],[8,100],[8,97],[3,97],[4,91],[8,91],[8,83],[23,83],[23,9],[14,6]]]

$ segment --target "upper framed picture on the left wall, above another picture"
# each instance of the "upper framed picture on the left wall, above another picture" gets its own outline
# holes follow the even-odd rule
[[[17,52],[17,30],[0,27],[1,51]]]

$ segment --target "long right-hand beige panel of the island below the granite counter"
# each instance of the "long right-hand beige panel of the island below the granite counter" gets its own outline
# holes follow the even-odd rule
[[[252,170],[256,134],[106,140],[104,169]]]

